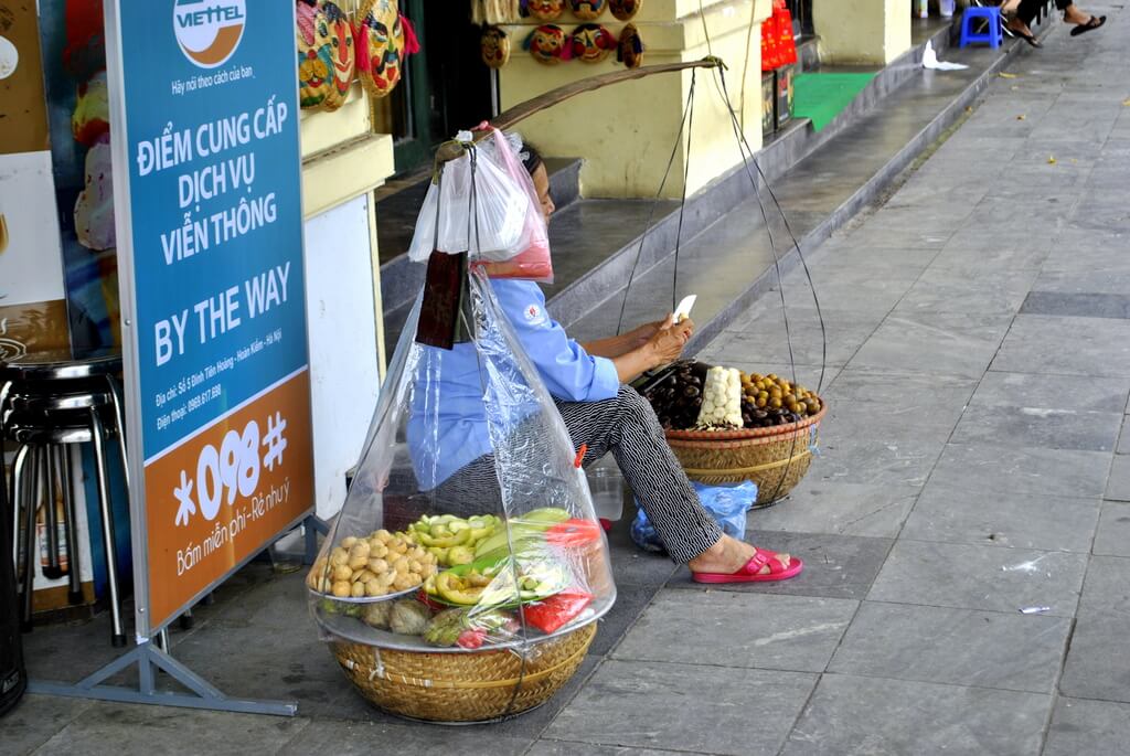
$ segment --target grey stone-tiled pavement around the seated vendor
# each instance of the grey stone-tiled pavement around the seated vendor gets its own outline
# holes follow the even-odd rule
[[[249,570],[175,655],[231,694],[296,697],[301,716],[33,696],[0,720],[0,751],[1125,753],[1130,32],[1106,12],[1023,54],[809,261],[823,455],[749,522],[803,575],[704,590],[620,528],[620,600],[577,678],[525,716],[445,729],[368,709],[296,620],[299,579]],[[800,275],[784,284],[815,385],[815,310]],[[784,372],[775,296],[702,356]],[[37,631],[34,671],[96,666],[80,632]]]

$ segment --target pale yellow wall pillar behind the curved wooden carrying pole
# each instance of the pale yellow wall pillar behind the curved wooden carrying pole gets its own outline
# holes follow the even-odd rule
[[[699,7],[705,11],[705,31]],[[633,19],[646,47],[644,66],[699,60],[711,53],[727,62],[727,87],[734,110],[745,113],[746,139],[755,150],[762,145],[760,21],[771,10],[771,0],[647,0]],[[624,27],[609,14],[599,20],[616,35]],[[566,14],[556,23],[570,32],[581,21]],[[503,108],[621,68],[612,54],[596,64],[577,60],[557,66],[538,63],[522,50],[534,26],[505,27],[513,51],[510,63],[499,71]],[[524,121],[519,130],[547,155],[583,158],[585,197],[652,197],[676,147],[693,76],[697,86],[687,180],[688,193],[693,193],[741,160],[729,110],[712,71],[659,73],[612,85],[555,105]],[[681,193],[686,165],[684,140],[676,149],[663,195]]]

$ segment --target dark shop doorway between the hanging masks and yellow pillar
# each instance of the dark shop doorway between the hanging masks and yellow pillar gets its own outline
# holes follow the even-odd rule
[[[374,129],[395,140],[398,175],[431,164],[436,145],[489,119],[494,90],[466,3],[402,0],[401,12],[416,27],[420,52],[408,59],[400,86],[373,102]]]

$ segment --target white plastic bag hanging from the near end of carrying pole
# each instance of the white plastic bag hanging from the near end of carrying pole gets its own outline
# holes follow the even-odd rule
[[[445,163],[438,182],[428,186],[408,257],[425,262],[438,250],[469,252],[471,260],[510,260],[529,246],[527,215],[536,210],[524,188],[487,150],[475,149]]]

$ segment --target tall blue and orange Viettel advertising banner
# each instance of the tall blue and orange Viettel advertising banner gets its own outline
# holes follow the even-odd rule
[[[313,504],[293,12],[107,14],[139,633]]]

